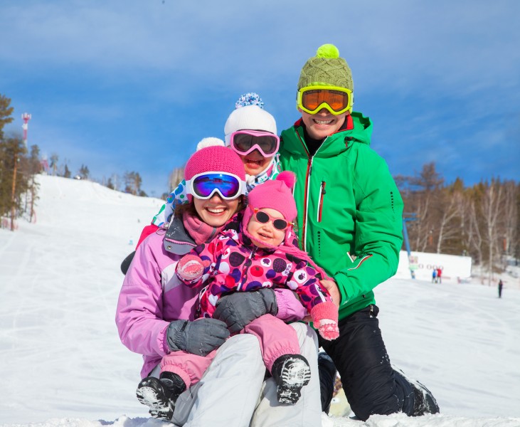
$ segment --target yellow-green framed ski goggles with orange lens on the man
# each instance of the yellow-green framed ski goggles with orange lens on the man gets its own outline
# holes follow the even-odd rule
[[[307,86],[298,90],[296,105],[300,110],[316,114],[327,108],[333,115],[352,110],[352,91],[338,86]]]

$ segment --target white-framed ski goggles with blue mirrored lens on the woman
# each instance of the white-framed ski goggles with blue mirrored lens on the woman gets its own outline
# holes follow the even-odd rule
[[[202,200],[218,193],[224,200],[233,200],[245,194],[245,181],[227,172],[204,172],[186,181],[186,193]]]

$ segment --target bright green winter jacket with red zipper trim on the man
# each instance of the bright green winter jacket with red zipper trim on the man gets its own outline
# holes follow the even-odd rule
[[[280,142],[282,169],[296,174],[300,247],[336,280],[340,320],[376,302],[372,290],[396,273],[403,243],[403,199],[369,147],[371,121],[357,112],[347,120],[314,157],[302,120]]]

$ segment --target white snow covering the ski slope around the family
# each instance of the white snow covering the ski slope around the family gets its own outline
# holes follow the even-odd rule
[[[120,263],[162,201],[90,181],[38,176],[36,223],[0,229],[0,425],[171,426],[135,397],[141,357],[120,342]],[[511,267],[514,268],[514,267]],[[396,367],[441,413],[323,426],[520,426],[520,286],[392,278],[376,288]]]

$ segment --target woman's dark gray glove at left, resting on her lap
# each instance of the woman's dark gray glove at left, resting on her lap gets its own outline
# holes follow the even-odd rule
[[[229,337],[224,322],[216,319],[174,320],[168,327],[168,346],[171,351],[185,350],[198,356],[206,356],[221,347]]]

